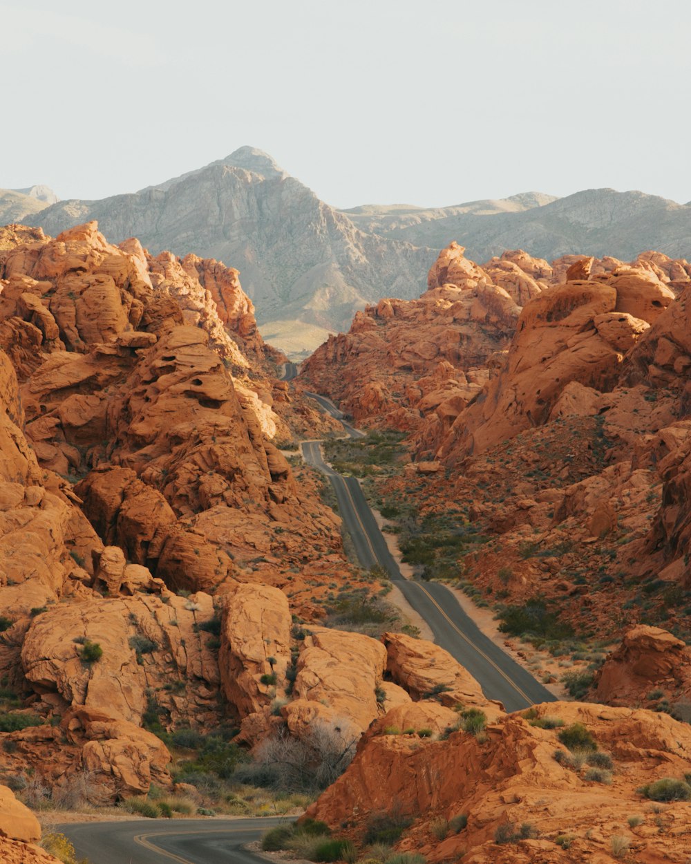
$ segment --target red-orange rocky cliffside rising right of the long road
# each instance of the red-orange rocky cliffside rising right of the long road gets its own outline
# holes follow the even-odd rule
[[[659,252],[548,264],[510,251],[479,267],[453,244],[421,300],[368,308],[302,375],[361,425],[409,433],[413,464],[378,495],[418,524],[460,512],[483,538],[458,556],[466,588],[541,599],[575,634],[689,633],[690,285],[691,265]],[[485,358],[464,356],[454,310],[506,293],[517,314],[501,339],[476,319]]]

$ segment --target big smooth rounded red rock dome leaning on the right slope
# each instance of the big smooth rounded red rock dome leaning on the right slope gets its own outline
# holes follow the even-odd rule
[[[630,270],[542,292],[523,308],[501,374],[454,422],[442,454],[477,453],[542,425],[572,382],[612,391],[624,353],[672,300],[665,292],[656,279]]]

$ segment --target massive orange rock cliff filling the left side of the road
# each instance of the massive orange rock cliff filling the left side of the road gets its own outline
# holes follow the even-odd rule
[[[295,704],[346,710],[314,696],[328,677],[291,616],[319,620],[345,581],[369,588],[273,443],[322,421],[276,381],[237,270],[111,245],[95,223],[55,239],[9,226],[0,349],[0,708],[18,715],[0,777],[59,790],[86,773],[104,801],[168,786],[143,723],[241,723],[256,743],[280,722],[263,681],[288,690],[291,651]],[[339,638],[333,663],[350,651],[360,674],[358,639],[386,654]],[[372,655],[358,734],[383,672]]]

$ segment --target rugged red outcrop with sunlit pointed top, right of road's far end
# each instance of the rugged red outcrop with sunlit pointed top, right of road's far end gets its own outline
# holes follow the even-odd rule
[[[301,378],[358,422],[443,435],[508,345],[519,308],[456,244],[441,252],[419,300],[383,300],[330,336]],[[428,429],[428,426],[434,428]]]

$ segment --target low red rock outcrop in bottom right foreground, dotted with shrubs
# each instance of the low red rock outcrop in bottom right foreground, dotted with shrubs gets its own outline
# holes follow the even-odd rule
[[[586,726],[597,746],[612,754],[610,785],[587,778],[587,768],[569,765],[559,730],[532,725],[530,717],[545,716],[567,726]],[[345,828],[357,839],[372,814],[408,816],[412,827],[397,847],[423,854],[428,861],[604,862],[612,860],[612,835],[629,838],[638,860],[661,861],[664,855],[674,858],[679,849],[675,831],[659,832],[653,817],[645,815],[641,827],[631,831],[627,819],[644,810],[637,787],[683,776],[689,755],[688,726],[666,715],[551,702],[536,706],[528,718],[515,714],[491,723],[486,739],[464,732],[440,741],[395,734],[371,737],[346,774],[307,809],[307,816],[339,831]],[[683,821],[687,807],[683,802],[668,804],[664,825]],[[461,814],[461,828],[449,827],[440,839],[440,820]],[[502,826],[508,826],[510,834],[511,825],[518,830],[522,823],[531,826],[529,839],[510,847],[495,843]],[[565,834],[567,848],[555,842]]]

